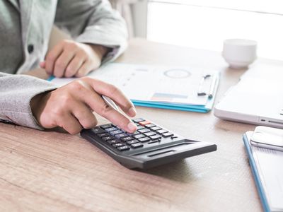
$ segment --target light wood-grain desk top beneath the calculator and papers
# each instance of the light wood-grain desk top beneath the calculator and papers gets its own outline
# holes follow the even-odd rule
[[[245,71],[227,69],[216,52],[140,39],[118,61],[219,69],[216,101]],[[277,63],[257,63],[262,62]],[[262,210],[242,141],[255,126],[217,119],[212,112],[146,107],[137,112],[189,139],[212,141],[218,150],[134,171],[79,136],[0,124],[0,211]]]

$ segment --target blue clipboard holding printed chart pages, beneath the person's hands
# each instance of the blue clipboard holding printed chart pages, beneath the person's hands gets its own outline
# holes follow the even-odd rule
[[[219,85],[219,71],[196,66],[108,63],[88,76],[117,86],[137,106],[202,113],[212,110]],[[48,80],[62,86],[74,79]]]

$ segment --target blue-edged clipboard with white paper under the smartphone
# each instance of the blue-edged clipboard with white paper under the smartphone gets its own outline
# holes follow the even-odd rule
[[[276,164],[267,163],[267,160],[275,160],[277,163],[283,162],[283,152],[253,146],[250,143],[252,135],[253,131],[247,131],[246,134],[243,134],[243,143],[248,153],[250,168],[253,172],[262,207],[267,212],[283,211],[283,184],[281,184],[283,172],[277,170],[282,165],[278,167]],[[267,164],[269,164],[269,167],[267,167]],[[282,180],[278,182],[277,179]]]

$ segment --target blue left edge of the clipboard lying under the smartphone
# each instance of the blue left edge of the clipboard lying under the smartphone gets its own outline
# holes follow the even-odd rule
[[[258,194],[260,195],[262,207],[263,207],[264,211],[270,212],[270,205],[268,204],[265,191],[262,187],[262,183],[260,181],[260,175],[258,173],[258,168],[255,165],[255,159],[253,158],[253,153],[252,153],[252,150],[250,148],[250,137],[251,137],[252,134],[253,134],[252,131],[248,131],[248,132],[246,132],[246,134],[243,134],[243,143],[245,144],[246,151],[248,153],[248,161],[250,163],[250,167],[251,167],[251,170],[253,172],[253,177],[255,179],[255,184],[256,184],[256,187],[258,189]]]

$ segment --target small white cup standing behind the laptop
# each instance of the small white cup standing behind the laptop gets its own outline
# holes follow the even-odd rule
[[[233,69],[248,67],[255,61],[257,42],[245,39],[224,40],[222,56]]]

